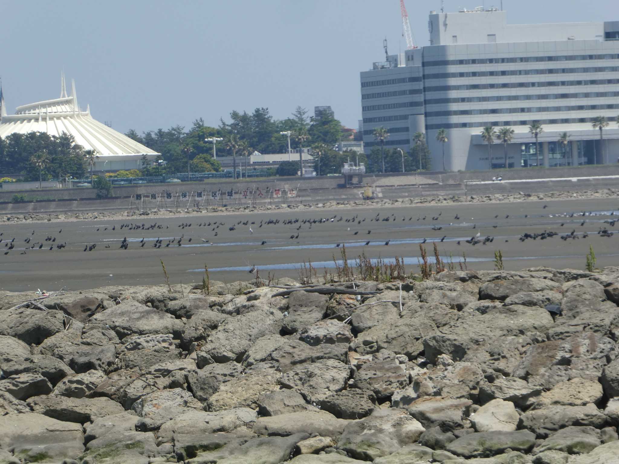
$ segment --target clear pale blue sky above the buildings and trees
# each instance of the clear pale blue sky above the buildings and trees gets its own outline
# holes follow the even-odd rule
[[[444,0],[460,7],[501,0]],[[416,45],[441,0],[406,0]],[[509,24],[619,20],[617,0],[503,0]],[[361,118],[359,72],[404,51],[398,0],[0,0],[0,77],[7,111],[60,96],[76,80],[82,110],[141,133],[229,120],[232,110],[331,105]]]

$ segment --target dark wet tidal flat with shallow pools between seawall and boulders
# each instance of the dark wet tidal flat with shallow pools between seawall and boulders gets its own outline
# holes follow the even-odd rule
[[[548,206],[543,208],[543,205]],[[582,217],[583,211],[586,211],[585,217]],[[611,212],[615,214],[610,215]],[[574,217],[569,217],[572,213]],[[456,214],[459,219],[455,218]],[[377,215],[379,220],[373,221]],[[381,220],[387,216],[391,217],[389,221]],[[354,222],[346,221],[353,217],[357,218]],[[433,220],[433,217],[438,217],[438,220]],[[303,219],[320,218],[327,218],[327,222],[313,224],[311,228],[309,224],[301,223]],[[337,243],[345,244],[348,259],[354,259],[361,252],[370,258],[401,256],[405,259],[407,272],[417,272],[420,241],[427,239],[425,246],[428,254],[432,254],[431,241],[439,241],[443,236],[446,236],[443,243],[438,243],[441,256],[449,260],[451,254],[458,269],[462,252],[466,254],[469,269],[493,269],[496,250],[501,250],[508,270],[535,266],[584,269],[590,245],[594,247],[598,267],[604,267],[619,264],[619,234],[603,238],[597,231],[600,227],[619,230],[619,224],[614,227],[604,223],[615,218],[619,220],[618,199],[577,199],[4,224],[0,226],[0,289],[53,291],[63,286],[79,290],[104,285],[163,283],[160,259],[165,262],[172,283],[202,281],[205,264],[210,269],[211,280],[249,280],[252,275],[248,270],[252,265],[258,267],[263,278],[271,272],[275,277],[298,279],[298,268],[303,260],[311,260],[319,273],[324,265],[332,267],[333,257],[340,259],[341,247],[335,247]],[[269,219],[280,222],[266,224]],[[286,220],[295,219],[299,221],[284,224]],[[586,223],[581,226],[583,220]],[[253,221],[255,224],[250,225],[254,233],[249,232],[250,225],[238,225],[238,221]],[[263,225],[259,227],[261,221]],[[204,225],[209,222],[210,226]],[[144,223],[145,227],[157,223],[163,228],[120,228],[122,224],[131,223]],[[181,223],[191,223],[191,226],[183,229]],[[199,223],[203,225],[198,226]],[[223,225],[213,231],[214,223]],[[111,230],[113,226],[116,226],[115,231]],[[236,230],[229,231],[230,226],[235,226]],[[301,228],[297,229],[299,226]],[[432,230],[433,227],[442,227],[442,230]],[[62,233],[59,233],[61,229]],[[371,230],[370,234],[368,230]],[[563,241],[555,236],[545,240],[529,239],[524,243],[518,240],[521,234],[544,230],[559,234],[576,230],[581,238]],[[354,235],[355,231],[358,231],[357,235]],[[471,246],[464,242],[478,232],[480,238],[493,236],[494,241],[485,246]],[[590,234],[589,238],[582,238],[584,232]],[[298,238],[290,239],[297,234]],[[181,235],[184,235],[182,246],[171,244],[165,247],[170,239],[178,240]],[[45,241],[48,236],[55,237],[56,241]],[[24,243],[28,237],[31,238],[30,244]],[[119,249],[124,237],[129,241],[127,250]],[[5,256],[5,244],[12,238],[15,238],[15,248]],[[142,238],[144,247],[140,243]],[[157,238],[163,241],[161,248],[153,247]],[[201,238],[209,242],[203,243]],[[267,243],[261,245],[265,240]],[[365,246],[368,240],[370,244]],[[385,246],[387,240],[390,242]],[[460,245],[457,245],[458,240]],[[42,249],[38,249],[37,242],[43,243]],[[65,242],[64,249],[56,249],[56,244]],[[33,243],[37,246],[30,249]],[[97,247],[93,251],[83,251],[85,246],[95,243]],[[106,248],[106,244],[110,247]],[[53,246],[51,251],[50,246]],[[20,254],[24,250],[26,254]]]

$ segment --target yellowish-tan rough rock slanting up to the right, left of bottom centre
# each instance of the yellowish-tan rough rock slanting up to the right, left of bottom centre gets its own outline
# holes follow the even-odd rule
[[[256,366],[254,370],[248,371],[243,376],[220,385],[219,390],[210,396],[206,408],[209,411],[258,408],[260,395],[279,390],[279,380],[282,374],[277,372],[272,365],[262,368],[256,368]]]

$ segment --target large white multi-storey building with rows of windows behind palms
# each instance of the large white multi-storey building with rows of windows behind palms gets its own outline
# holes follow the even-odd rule
[[[490,167],[485,126],[514,129],[509,167],[537,165],[529,126],[542,124],[539,165],[569,166],[619,161],[619,21],[509,25],[496,9],[430,12],[430,46],[387,56],[361,72],[363,140],[386,127],[386,147],[410,150],[424,132],[435,170],[443,167],[436,141],[446,129],[447,170]],[[608,127],[592,127],[605,116]],[[558,143],[567,132],[569,143]],[[495,139],[493,167],[505,165]]]

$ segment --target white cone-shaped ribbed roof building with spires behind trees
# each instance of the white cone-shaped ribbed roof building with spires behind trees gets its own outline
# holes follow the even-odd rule
[[[86,111],[80,111],[75,81],[71,81],[71,95],[67,96],[64,73],[61,75],[60,98],[18,106],[15,114],[6,114],[0,90],[0,137],[32,131],[72,135],[76,144],[97,153],[95,170],[139,169],[142,155],[147,155],[149,160],[158,156],[150,148],[93,119],[90,106]]]

